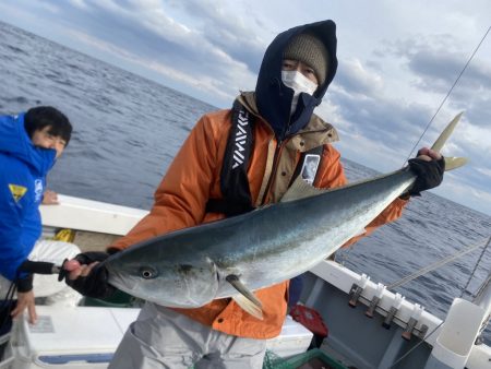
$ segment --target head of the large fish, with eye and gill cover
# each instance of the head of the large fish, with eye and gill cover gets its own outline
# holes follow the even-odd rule
[[[107,259],[105,266],[112,286],[166,307],[201,307],[218,290],[215,263],[199,255],[184,260],[130,248]]]

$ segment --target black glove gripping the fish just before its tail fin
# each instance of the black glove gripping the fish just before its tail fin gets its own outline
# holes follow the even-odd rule
[[[411,197],[420,197],[421,191],[426,191],[440,186],[443,180],[443,172],[445,171],[445,159],[432,159],[430,162],[412,158],[409,162],[410,170],[418,176],[415,183],[408,190]]]

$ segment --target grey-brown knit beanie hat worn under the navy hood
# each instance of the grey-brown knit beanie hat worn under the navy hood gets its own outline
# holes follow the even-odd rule
[[[324,83],[330,56],[324,44],[314,35],[303,33],[295,36],[286,47],[283,58],[309,64],[315,72],[319,85]]]

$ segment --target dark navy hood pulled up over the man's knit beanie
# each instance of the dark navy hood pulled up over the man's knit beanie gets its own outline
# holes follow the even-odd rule
[[[282,82],[282,66],[285,48],[296,35],[309,32],[325,46],[328,55],[328,68],[325,81],[313,96],[300,94],[297,110],[290,117],[294,91]],[[328,85],[337,70],[336,24],[322,21],[290,28],[277,35],[264,53],[255,86],[255,97],[260,115],[272,126],[278,140],[295,134],[309,122],[314,108],[321,104]]]

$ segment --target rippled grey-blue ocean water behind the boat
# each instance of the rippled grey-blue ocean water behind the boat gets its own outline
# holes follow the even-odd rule
[[[206,103],[0,22],[0,114],[52,105],[74,124],[72,141],[48,177],[50,189],[74,197],[149,209],[153,192]],[[231,102],[230,102],[231,104]],[[335,124],[335,122],[334,122]],[[343,159],[348,179],[375,174]],[[400,219],[378,229],[337,260],[372,281],[393,284],[491,236],[491,217],[423,193]],[[491,270],[482,247],[394,289],[444,318],[472,298]],[[491,336],[488,334],[488,337]]]

